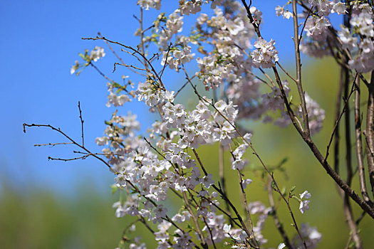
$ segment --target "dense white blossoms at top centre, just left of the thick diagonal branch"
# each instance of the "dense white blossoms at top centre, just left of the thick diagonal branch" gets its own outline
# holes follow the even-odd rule
[[[251,48],[249,41],[254,37],[253,26],[247,21],[245,11],[239,8],[239,3],[232,1],[227,4],[232,11],[238,11],[237,15],[224,16],[222,9],[217,8],[210,19],[202,14],[197,20],[197,31],[214,41],[213,50],[204,58],[197,58],[200,68],[197,76],[207,89],[215,89],[225,80],[241,82],[241,75],[251,64],[242,50]]]

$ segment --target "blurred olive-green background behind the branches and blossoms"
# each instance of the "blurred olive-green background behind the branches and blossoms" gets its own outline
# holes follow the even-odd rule
[[[338,68],[332,60],[315,60],[303,68],[305,90],[326,110],[324,128],[314,136],[322,152],[326,152],[326,144],[333,129],[338,75]],[[286,79],[284,75],[283,79]],[[195,101],[194,96],[185,95],[184,98],[187,105],[192,105]],[[365,96],[362,100],[365,100]],[[296,185],[296,194],[301,194],[304,190],[312,194],[311,209],[303,215],[298,211],[298,203],[291,200],[296,221],[299,224],[306,222],[318,228],[323,234],[319,248],[345,248],[348,228],[336,186],[313,158],[294,128],[284,129],[261,122],[248,122],[245,125],[254,131],[254,147],[268,166],[276,166],[282,159],[288,159],[283,166],[285,172],[274,171],[279,186],[290,189]],[[342,169],[344,149],[342,144]],[[217,181],[217,145],[201,147],[198,152]],[[251,157],[250,153],[247,153],[247,157],[250,161],[249,169],[259,167],[259,161]],[[333,157],[330,161],[332,159]],[[229,165],[229,156],[225,154],[228,195],[240,206],[237,174]],[[355,157],[353,165],[356,165]],[[269,206],[261,171],[249,169],[244,171],[246,178],[253,179],[253,183],[247,187],[249,201],[261,200]],[[357,178],[356,175],[353,181],[355,189],[358,189]],[[111,206],[113,202],[118,201],[118,193],[111,195],[109,184],[107,191],[103,191],[88,187],[89,182],[83,180],[75,186],[74,196],[56,196],[53,191],[38,187],[19,189],[5,179],[1,179],[0,183],[0,248],[115,248],[121,239],[123,229],[133,221],[133,218],[115,218],[115,210]],[[286,206],[279,201],[277,194],[274,194],[274,198],[276,206],[279,206],[279,218],[289,236],[293,237],[295,231],[290,225],[291,218]],[[172,206],[173,201],[175,199],[172,196],[170,211],[176,211]],[[357,218],[360,215],[360,208],[354,203],[352,205]],[[373,248],[373,220],[365,216],[359,228],[364,248]],[[137,235],[142,235],[142,240],[149,248],[155,248],[152,235],[142,228],[128,235],[128,238],[135,238]],[[281,242],[281,236],[276,231],[271,217],[266,221],[264,236],[269,239],[266,248],[276,248]]]

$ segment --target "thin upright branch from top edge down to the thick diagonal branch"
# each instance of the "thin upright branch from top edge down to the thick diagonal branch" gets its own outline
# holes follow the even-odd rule
[[[292,1],[292,11],[294,12],[294,43],[295,43],[295,55],[296,55],[296,85],[298,90],[298,95],[301,101],[301,110],[303,112],[303,126],[306,137],[310,136],[309,121],[308,121],[308,111],[306,110],[305,95],[303,91],[303,86],[301,85],[301,58],[300,58],[300,42],[298,37],[298,19],[297,19],[297,1]]]

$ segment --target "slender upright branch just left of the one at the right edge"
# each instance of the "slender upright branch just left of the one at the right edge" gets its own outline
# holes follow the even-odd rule
[[[358,178],[360,181],[363,200],[370,202],[368,189],[365,182],[365,168],[363,166],[363,144],[361,139],[361,114],[360,114],[360,78],[355,80],[355,150],[357,155]]]

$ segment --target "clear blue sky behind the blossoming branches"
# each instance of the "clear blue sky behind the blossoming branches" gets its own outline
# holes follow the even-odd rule
[[[138,15],[139,8],[135,3],[135,0],[0,1],[0,106],[3,115],[0,186],[1,182],[13,184],[20,190],[38,186],[68,195],[82,185],[101,193],[109,191],[107,186],[113,181],[113,175],[103,164],[95,159],[48,161],[48,156],[75,157],[71,151],[76,148],[33,147],[33,144],[66,140],[48,129],[27,129],[24,134],[22,124],[52,124],[79,140],[77,104],[80,101],[85,120],[85,144],[99,152],[100,148],[93,141],[103,134],[104,120],[108,120],[114,110],[105,106],[106,80],[93,68],[87,68],[79,77],[71,75],[70,68],[85,48],[105,47],[100,41],[81,40],[96,36],[98,31],[111,40],[136,46],[138,38],[133,33],[137,21],[133,14]],[[276,17],[274,11],[276,5],[286,1],[254,0],[252,3],[264,13],[264,38],[274,38],[281,61],[292,62],[292,22]],[[162,11],[170,14],[176,4],[177,1],[164,0]],[[146,11],[145,22],[151,23],[155,14],[156,11]],[[112,75],[114,57],[105,50],[107,56],[97,65]],[[127,74],[128,71],[121,68],[113,78],[118,80],[120,75]],[[178,79],[165,74],[164,81],[173,80]],[[127,110],[136,110],[143,129],[153,121],[142,103],[128,104],[122,112]]]

